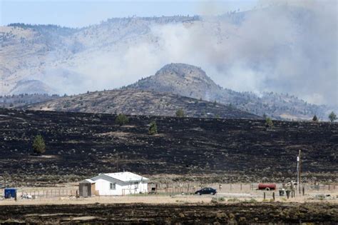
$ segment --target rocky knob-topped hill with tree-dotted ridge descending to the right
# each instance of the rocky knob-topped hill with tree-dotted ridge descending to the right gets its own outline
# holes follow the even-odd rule
[[[275,119],[309,120],[313,115],[327,119],[328,114],[325,106],[307,104],[288,94],[263,93],[262,96],[257,96],[249,92],[223,89],[215,84],[203,69],[188,64],[168,64],[155,75],[140,79],[127,87],[217,101],[252,114],[266,114]]]

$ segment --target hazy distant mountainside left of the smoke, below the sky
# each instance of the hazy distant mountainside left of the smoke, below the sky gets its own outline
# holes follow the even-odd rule
[[[94,90],[106,88],[107,81],[97,80],[97,72],[101,72],[101,77],[111,75],[114,69],[108,68],[109,60],[126,54],[128,46],[155,44],[153,26],[199,20],[198,16],[116,18],[82,29],[31,24],[0,26],[0,95],[79,94],[93,90],[93,86]],[[103,71],[102,67],[106,69]],[[27,86],[26,81],[39,84]]]

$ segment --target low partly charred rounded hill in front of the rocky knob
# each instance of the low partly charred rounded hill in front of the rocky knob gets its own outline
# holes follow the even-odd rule
[[[185,116],[220,118],[260,118],[235,107],[217,102],[191,99],[177,94],[164,94],[140,89],[96,91],[66,96],[41,104],[28,106],[43,111],[75,111],[86,113],[175,116],[183,109]]]

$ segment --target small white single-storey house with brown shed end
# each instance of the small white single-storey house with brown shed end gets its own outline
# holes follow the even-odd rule
[[[98,174],[79,184],[80,196],[139,194],[148,191],[149,179],[130,172]]]

